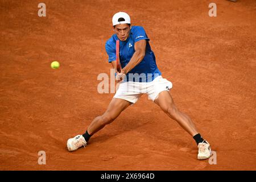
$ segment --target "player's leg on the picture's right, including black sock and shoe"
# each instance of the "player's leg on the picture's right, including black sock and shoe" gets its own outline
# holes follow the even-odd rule
[[[210,157],[210,144],[201,137],[191,118],[177,109],[171,94],[168,91],[160,92],[154,102],[196,140],[199,147],[197,159],[208,159]]]

